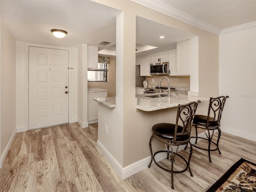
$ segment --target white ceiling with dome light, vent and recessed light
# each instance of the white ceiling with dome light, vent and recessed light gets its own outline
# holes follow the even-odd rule
[[[256,21],[256,0],[132,0],[194,26],[220,34],[221,30]],[[98,46],[114,49],[116,16],[120,10],[90,0],[0,0],[1,20],[16,40],[57,46]],[[137,17],[136,43],[156,46],[158,51],[172,48],[192,34]],[[55,38],[50,30],[66,30]],[[159,39],[164,35],[166,38]],[[107,46],[98,45],[102,41]],[[154,50],[156,52],[156,49]],[[149,52],[148,52],[149,53]]]

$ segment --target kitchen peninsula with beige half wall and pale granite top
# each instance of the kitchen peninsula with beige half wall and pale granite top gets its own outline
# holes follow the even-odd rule
[[[160,122],[175,122],[178,104],[201,100],[198,112],[201,112],[200,108],[208,108],[208,103],[204,102],[208,98],[188,96],[184,91],[177,91],[177,93],[178,96],[176,92],[172,92],[170,98],[166,93],[161,93],[161,98],[158,97],[159,93],[134,95],[126,101],[118,96],[94,98],[94,101],[98,102],[97,147],[122,179],[148,167],[150,162],[148,142],[152,134],[151,128]],[[124,105],[127,108],[124,114],[130,119],[128,121],[120,116],[119,111]],[[127,127],[126,131],[122,129],[124,126]],[[194,130],[192,136],[194,136]],[[122,144],[124,138],[129,143],[127,146]],[[163,150],[164,146],[154,144],[154,148]],[[126,167],[122,162],[128,158],[124,159],[120,151],[125,150],[133,154],[135,149],[138,153],[129,158],[132,158],[131,161],[136,166],[130,168],[128,164]],[[166,158],[166,155],[159,156],[159,160],[163,158]]]

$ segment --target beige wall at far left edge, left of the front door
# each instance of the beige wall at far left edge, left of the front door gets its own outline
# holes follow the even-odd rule
[[[1,156],[16,132],[15,66],[15,40],[1,21]]]

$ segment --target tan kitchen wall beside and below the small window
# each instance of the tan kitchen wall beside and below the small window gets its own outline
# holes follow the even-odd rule
[[[108,90],[108,97],[116,96],[116,58],[110,57],[108,65],[108,82],[88,83],[90,87]]]

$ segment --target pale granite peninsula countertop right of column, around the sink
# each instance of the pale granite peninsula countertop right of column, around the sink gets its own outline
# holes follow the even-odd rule
[[[146,94],[146,96],[156,95],[153,94]],[[144,95],[136,95],[137,104],[136,108],[143,111],[155,111],[161,110],[166,108],[172,108],[178,106],[178,104],[187,104],[192,101],[200,100],[201,102],[209,100],[209,98],[202,98],[197,96],[188,96],[186,94],[176,94],[171,93],[171,97],[164,96],[161,98],[150,98]]]

